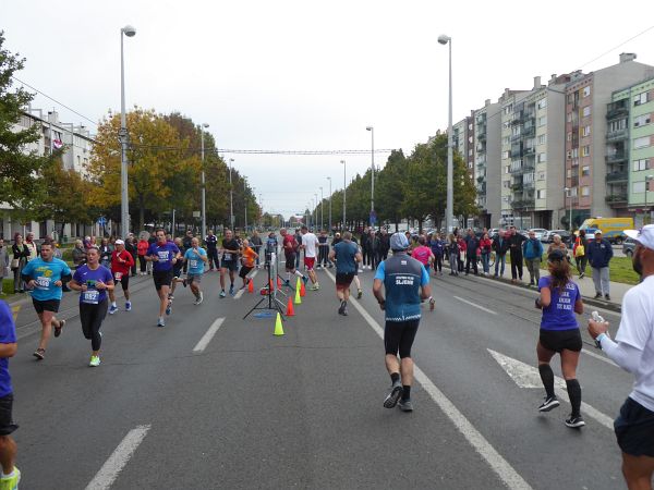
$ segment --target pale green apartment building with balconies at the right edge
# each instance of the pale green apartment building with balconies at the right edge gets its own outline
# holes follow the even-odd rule
[[[653,120],[654,77],[614,91],[606,108],[606,200],[639,228],[654,204]]]

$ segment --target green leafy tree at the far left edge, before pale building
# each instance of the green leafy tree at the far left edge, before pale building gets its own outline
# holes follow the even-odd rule
[[[25,59],[2,49],[0,32],[0,195],[2,200],[29,212],[39,203],[45,188],[44,169],[52,156],[40,157],[31,144],[40,138],[40,125],[17,130],[25,106],[34,98],[23,87],[11,89],[12,77],[23,69]]]

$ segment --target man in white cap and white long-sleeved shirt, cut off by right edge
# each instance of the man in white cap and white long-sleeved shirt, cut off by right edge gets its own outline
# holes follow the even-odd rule
[[[615,342],[606,322],[589,321],[589,332],[613,362],[635,377],[614,427],[627,486],[645,489],[652,488],[654,475],[654,224],[625,233],[635,241],[633,270],[642,281],[625,294]]]

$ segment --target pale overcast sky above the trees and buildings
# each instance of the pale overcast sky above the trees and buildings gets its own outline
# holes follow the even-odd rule
[[[0,19],[5,47],[27,59],[17,77],[93,121],[120,111],[125,24],[137,29],[125,39],[128,107],[206,122],[227,149],[370,149],[373,125],[375,148],[409,154],[447,128],[443,33],[453,39],[455,122],[536,75],[590,72],[622,51],[654,64],[654,28],[629,40],[654,25],[652,1],[4,0]],[[34,107],[95,131],[43,96]],[[370,155],[231,158],[264,209],[286,217],[320,186],[327,197],[327,176],[342,187],[340,160],[348,181],[371,164]]]

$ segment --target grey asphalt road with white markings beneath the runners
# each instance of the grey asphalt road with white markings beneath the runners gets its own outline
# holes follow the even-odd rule
[[[536,366],[535,292],[434,278],[436,310],[425,309],[414,345],[415,412],[404,414],[382,406],[389,378],[372,272],[360,274],[364,297],[347,318],[331,275],[318,274],[322,290],[307,291],[283,336],[274,319],[242,319],[261,296],[219,299],[215,272],[201,306],[180,286],[159,329],[152,281],[138,278],[134,309],[105,322],[98,368],[87,367],[73,294],[40,363],[24,305],[11,360],[22,488],[626,488],[607,420],[630,375],[589,342],[579,369],[588,425],[572,430],[567,403],[538,414],[543,389],[520,388],[494,357],[513,376]],[[602,314],[615,332],[619,317]]]

